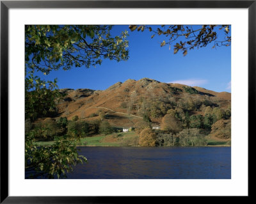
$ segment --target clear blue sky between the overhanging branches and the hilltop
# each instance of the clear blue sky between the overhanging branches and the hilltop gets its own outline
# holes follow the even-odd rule
[[[152,33],[145,30],[131,32],[128,26],[114,26],[113,35],[122,31],[129,32],[128,61],[104,60],[96,68],[72,68],[71,70],[52,71],[49,75],[38,73],[42,79],[58,78],[59,88],[90,88],[105,90],[116,82],[127,79],[139,80],[144,77],[161,82],[179,82],[189,86],[200,86],[207,90],[230,92],[231,47],[213,45],[173,54],[173,47],[160,47],[164,36],[151,39]],[[221,32],[222,33],[222,32]]]

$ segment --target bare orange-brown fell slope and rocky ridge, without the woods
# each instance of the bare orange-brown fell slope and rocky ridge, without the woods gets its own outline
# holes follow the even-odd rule
[[[104,112],[108,122],[116,127],[131,127],[138,121],[143,120],[141,114],[143,101],[166,101],[189,100],[211,100],[220,107],[227,107],[230,104],[231,94],[228,92],[215,92],[195,86],[198,93],[189,94],[184,90],[184,84],[172,84],[159,82],[154,79],[143,78],[138,81],[128,79],[125,82],[116,82],[106,90],[89,89],[62,89],[65,93],[61,102],[58,103],[58,117],[67,117],[71,120],[77,115],[83,120],[96,120],[99,116],[93,116],[99,111]],[[175,89],[176,88],[176,89]],[[196,112],[195,112],[196,113]],[[200,113],[200,111],[198,111]],[[160,122],[160,118],[152,118]]]

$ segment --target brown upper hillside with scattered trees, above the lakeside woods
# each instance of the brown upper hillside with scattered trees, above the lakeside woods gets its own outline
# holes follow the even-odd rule
[[[203,114],[207,106],[226,109],[231,94],[215,92],[184,84],[159,82],[143,78],[116,82],[106,90],[62,89],[65,97],[58,103],[58,117],[71,120],[96,120],[99,112],[115,127],[132,127],[145,114],[154,123],[160,123],[169,109],[180,107],[191,114]],[[185,110],[186,109],[186,110]]]

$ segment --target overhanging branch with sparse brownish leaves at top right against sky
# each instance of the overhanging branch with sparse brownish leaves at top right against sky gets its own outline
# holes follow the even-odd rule
[[[230,46],[230,27],[230,25],[162,25],[157,26],[155,29],[153,26],[131,25],[129,29],[141,32],[147,29],[153,34],[151,38],[154,38],[156,35],[165,36],[166,40],[161,42],[161,47],[169,45],[169,49],[173,47],[174,54],[181,51],[186,56],[188,51],[206,47],[210,44],[212,48]],[[223,33],[223,38],[220,38],[221,32]]]

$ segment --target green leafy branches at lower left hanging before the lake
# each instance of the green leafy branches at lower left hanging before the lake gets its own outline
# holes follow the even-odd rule
[[[54,145],[40,147],[33,141],[33,137],[26,136],[25,169],[29,178],[65,177],[76,164],[87,162],[83,155],[78,155],[74,139],[61,137]]]

